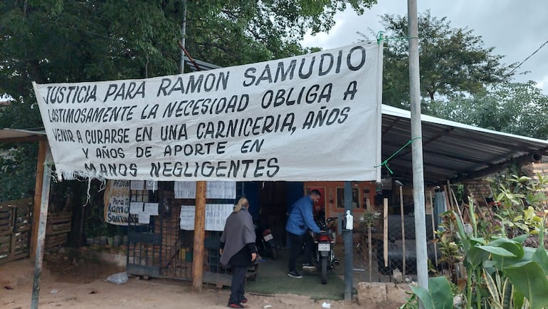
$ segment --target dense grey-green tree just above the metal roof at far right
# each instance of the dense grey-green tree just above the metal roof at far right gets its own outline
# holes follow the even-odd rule
[[[485,129],[548,138],[548,95],[529,83],[501,83],[468,97],[432,104],[432,112]]]

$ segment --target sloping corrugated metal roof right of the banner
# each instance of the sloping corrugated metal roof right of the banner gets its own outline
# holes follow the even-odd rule
[[[382,106],[382,159],[411,140],[411,112]],[[425,182],[473,179],[494,174],[511,162],[532,162],[533,155],[547,155],[548,141],[486,130],[471,125],[421,115]],[[387,164],[391,177],[411,183],[411,145]],[[383,174],[386,174],[386,169]]]

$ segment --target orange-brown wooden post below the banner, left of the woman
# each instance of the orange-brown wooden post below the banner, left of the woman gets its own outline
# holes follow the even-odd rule
[[[196,182],[196,213],[194,216],[194,254],[192,287],[201,292],[204,276],[204,240],[206,238],[206,182]]]

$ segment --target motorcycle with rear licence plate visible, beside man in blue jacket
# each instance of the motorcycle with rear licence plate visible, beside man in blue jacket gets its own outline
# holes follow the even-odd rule
[[[315,245],[315,264],[320,271],[322,284],[327,283],[327,269],[332,269],[339,265],[339,260],[334,254],[334,240],[332,239],[331,226],[332,221],[337,218],[327,219],[327,224],[323,220],[317,220],[318,227],[322,230],[314,239]]]

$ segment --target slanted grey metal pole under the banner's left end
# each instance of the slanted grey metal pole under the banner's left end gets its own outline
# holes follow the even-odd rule
[[[42,199],[40,204],[40,216],[38,224],[38,240],[36,242],[36,258],[34,260],[34,280],[32,284],[31,309],[38,308],[40,299],[40,276],[42,274],[43,246],[46,241],[46,223],[48,221],[48,206],[51,184],[51,150],[46,150],[46,161],[44,162]]]

